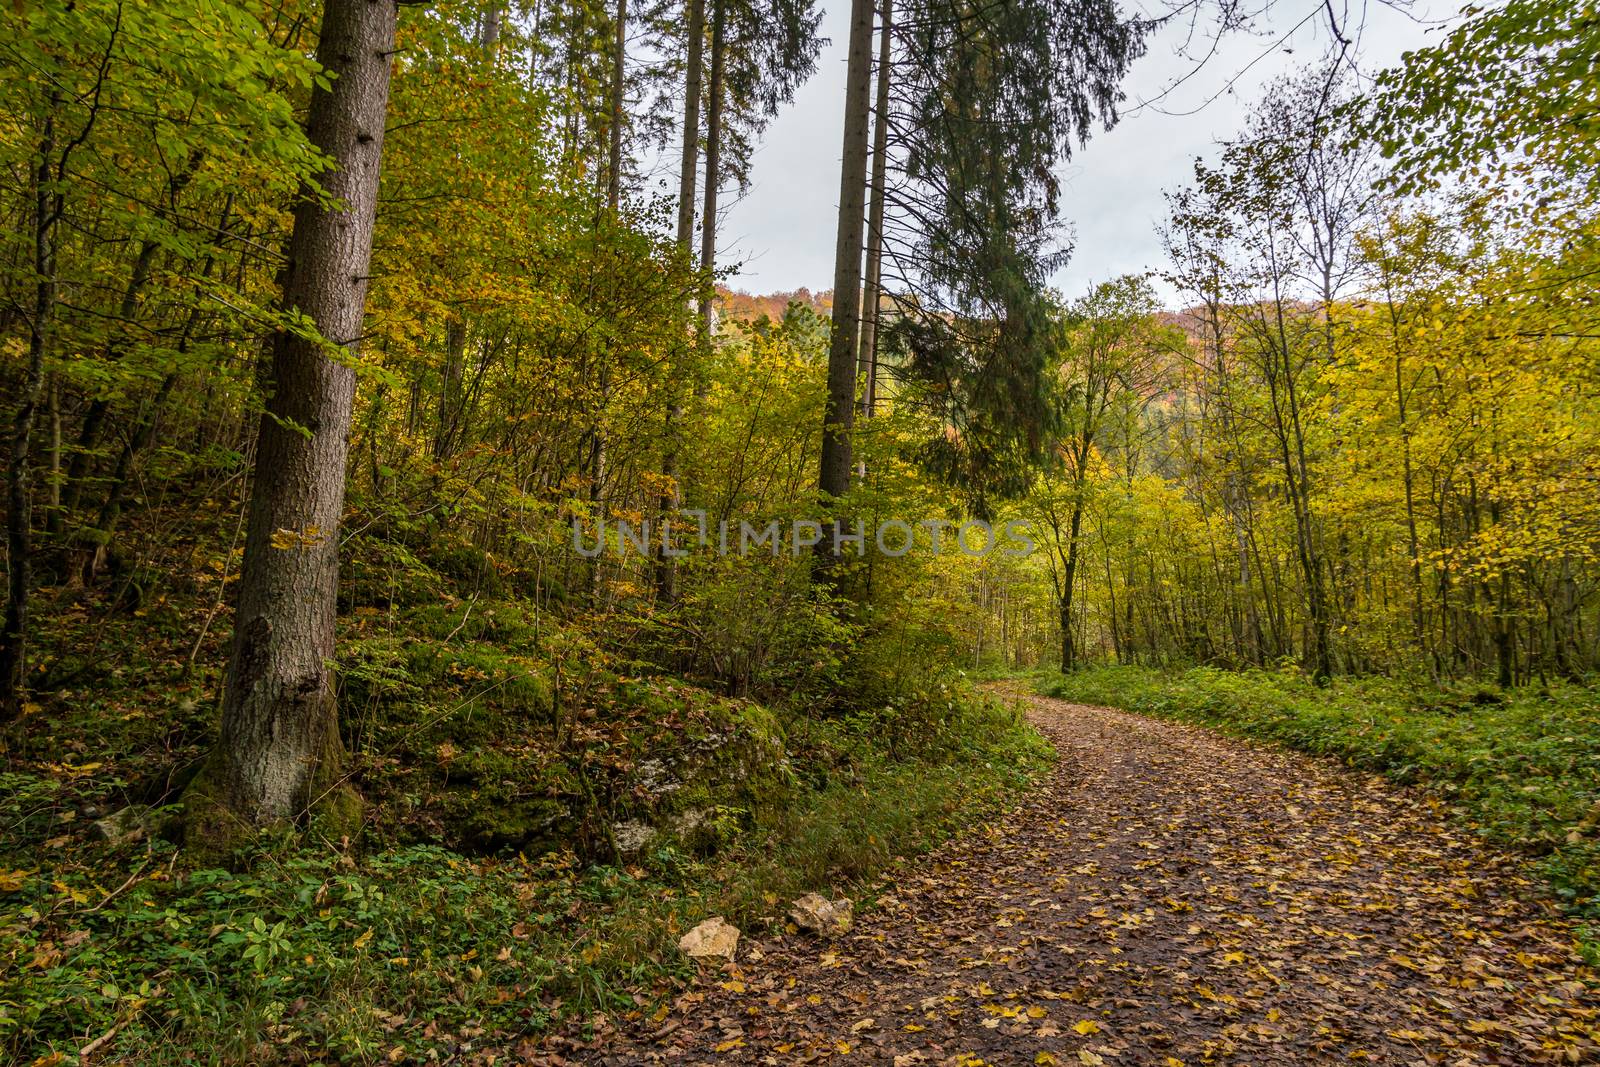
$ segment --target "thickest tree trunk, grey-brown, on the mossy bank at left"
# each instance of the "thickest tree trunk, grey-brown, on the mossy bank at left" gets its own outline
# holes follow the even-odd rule
[[[395,0],[328,0],[318,61],[336,75],[312,93],[306,133],[333,168],[302,189],[283,306],[355,349],[378,214]],[[339,584],[339,512],[355,370],[282,331],[256,438],[245,561],[222,691],[222,733],[190,787],[187,837],[221,849],[250,825],[301,816],[339,789],[344,745],[330,664]],[[334,809],[342,809],[338,805]]]

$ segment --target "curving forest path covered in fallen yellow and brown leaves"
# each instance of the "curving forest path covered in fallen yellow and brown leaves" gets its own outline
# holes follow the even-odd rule
[[[592,1062],[1600,1062],[1571,926],[1382,779],[1011,693],[1059,763],[832,944],[707,974]]]

